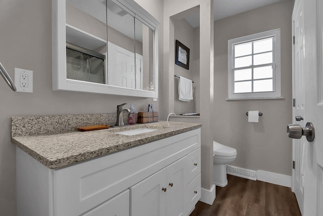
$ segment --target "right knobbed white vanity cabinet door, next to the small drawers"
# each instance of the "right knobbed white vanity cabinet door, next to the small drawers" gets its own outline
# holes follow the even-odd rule
[[[185,194],[187,191],[186,179],[187,156],[177,160],[167,167],[167,215],[187,215]]]

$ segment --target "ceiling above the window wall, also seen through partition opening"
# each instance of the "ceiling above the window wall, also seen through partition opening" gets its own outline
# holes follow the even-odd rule
[[[237,15],[282,0],[214,0],[214,21]],[[193,28],[199,26],[199,13],[185,18]]]

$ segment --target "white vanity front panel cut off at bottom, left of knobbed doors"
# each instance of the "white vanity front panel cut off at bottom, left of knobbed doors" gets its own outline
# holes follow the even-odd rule
[[[82,216],[127,216],[129,215],[129,190],[103,202]]]

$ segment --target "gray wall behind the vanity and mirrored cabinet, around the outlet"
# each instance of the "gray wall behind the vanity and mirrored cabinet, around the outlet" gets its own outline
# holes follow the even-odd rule
[[[138,0],[138,3],[140,1]],[[163,21],[162,0],[139,3]],[[13,92],[0,78],[0,214],[16,215],[15,145],[11,143],[11,117],[116,113],[116,105],[134,103],[146,109],[152,99],[51,90],[51,1],[0,1],[0,62],[14,78],[14,68],[33,71],[33,93]],[[158,34],[163,62],[163,27]],[[159,64],[161,73],[163,64]],[[160,74],[159,73],[159,74]],[[159,101],[153,102],[158,111]]]

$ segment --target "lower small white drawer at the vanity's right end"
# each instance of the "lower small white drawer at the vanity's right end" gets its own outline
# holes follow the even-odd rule
[[[201,198],[201,174],[198,174],[198,176],[188,184],[187,191],[187,209],[193,209],[197,201]]]

